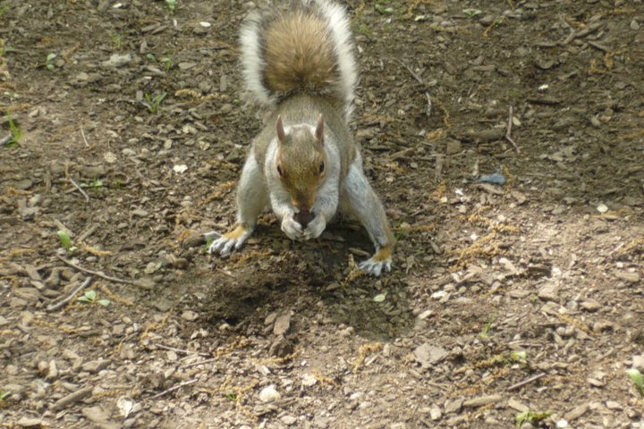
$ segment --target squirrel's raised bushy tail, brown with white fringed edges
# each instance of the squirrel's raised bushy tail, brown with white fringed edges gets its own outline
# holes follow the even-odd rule
[[[297,0],[287,11],[252,13],[242,27],[246,88],[264,105],[306,93],[343,103],[352,113],[358,75],[349,19],[330,0]]]

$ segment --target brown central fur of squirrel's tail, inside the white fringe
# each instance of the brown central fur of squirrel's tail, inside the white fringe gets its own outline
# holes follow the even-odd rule
[[[272,91],[323,93],[338,80],[337,59],[326,22],[304,10],[267,23],[264,80]]]

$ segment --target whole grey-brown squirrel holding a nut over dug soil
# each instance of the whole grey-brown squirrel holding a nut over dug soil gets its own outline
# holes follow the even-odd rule
[[[362,223],[376,253],[361,271],[391,271],[394,235],[349,130],[358,80],[349,20],[330,0],[251,13],[241,31],[242,77],[271,112],[237,188],[237,222],[208,253],[228,255],[270,206],[291,240],[316,239],[338,209]]]

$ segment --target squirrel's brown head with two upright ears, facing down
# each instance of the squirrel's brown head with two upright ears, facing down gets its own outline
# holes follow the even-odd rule
[[[277,175],[291,196],[292,205],[309,211],[318,185],[326,176],[324,118],[319,115],[315,130],[308,125],[296,125],[287,133],[282,117],[278,116],[275,128],[279,145],[275,158]]]

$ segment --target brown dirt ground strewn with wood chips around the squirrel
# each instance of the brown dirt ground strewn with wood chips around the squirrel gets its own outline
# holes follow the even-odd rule
[[[644,3],[346,4],[379,279],[351,222],[205,252],[254,4],[0,1],[0,427],[644,428]]]

